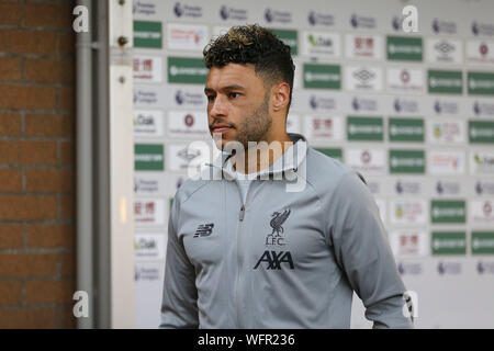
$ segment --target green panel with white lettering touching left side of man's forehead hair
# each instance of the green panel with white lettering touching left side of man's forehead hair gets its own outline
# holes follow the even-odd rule
[[[204,84],[209,69],[201,58],[168,57],[168,82]]]

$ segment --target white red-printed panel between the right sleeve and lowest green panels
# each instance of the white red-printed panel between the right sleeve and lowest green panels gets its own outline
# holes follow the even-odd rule
[[[393,230],[390,245],[396,257],[420,257],[428,254],[428,237],[425,230]]]

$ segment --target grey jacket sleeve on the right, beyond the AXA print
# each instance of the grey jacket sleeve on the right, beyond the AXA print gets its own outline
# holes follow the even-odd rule
[[[378,206],[364,183],[347,173],[332,197],[329,229],[336,261],[362,299],[373,328],[413,328],[403,314],[405,286]]]

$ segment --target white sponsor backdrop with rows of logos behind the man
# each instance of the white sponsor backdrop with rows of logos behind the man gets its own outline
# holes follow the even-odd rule
[[[402,30],[405,4],[418,32]],[[172,196],[209,156],[188,148],[210,139],[202,49],[258,23],[294,55],[289,131],[366,177],[416,326],[494,328],[492,13],[487,0],[134,0],[137,326],[159,324]],[[353,305],[352,327],[369,327]]]

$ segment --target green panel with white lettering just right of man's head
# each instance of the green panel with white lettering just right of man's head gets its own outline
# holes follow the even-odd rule
[[[304,88],[340,89],[340,66],[304,64]]]

